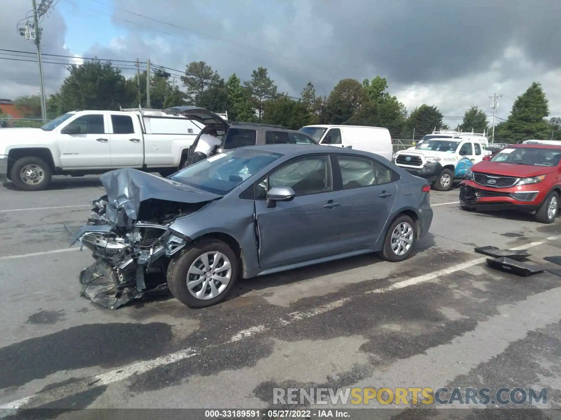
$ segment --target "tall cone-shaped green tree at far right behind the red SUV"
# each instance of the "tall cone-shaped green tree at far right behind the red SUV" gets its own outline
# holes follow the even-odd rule
[[[519,142],[530,138],[551,138],[548,121],[548,99],[540,83],[532,83],[512,105],[511,115],[505,124],[505,134],[513,141]],[[496,136],[496,128],[495,128]]]

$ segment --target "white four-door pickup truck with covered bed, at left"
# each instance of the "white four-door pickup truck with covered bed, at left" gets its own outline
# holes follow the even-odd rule
[[[0,181],[10,179],[16,188],[34,191],[47,188],[53,175],[102,174],[122,167],[166,176],[182,166],[206,124],[227,124],[221,115],[195,106],[73,111],[41,128],[4,128]]]

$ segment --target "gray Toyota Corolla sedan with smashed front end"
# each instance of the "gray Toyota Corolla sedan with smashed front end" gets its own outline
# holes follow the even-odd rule
[[[348,148],[241,147],[168,178],[125,168],[101,181],[71,245],[95,259],[82,295],[112,308],[167,288],[200,308],[240,277],[373,252],[402,261],[433,220],[426,180]]]

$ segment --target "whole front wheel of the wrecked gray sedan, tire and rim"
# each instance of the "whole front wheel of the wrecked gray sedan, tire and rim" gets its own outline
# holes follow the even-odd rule
[[[203,239],[170,264],[169,291],[182,304],[201,308],[226,299],[238,277],[234,251],[217,239]]]

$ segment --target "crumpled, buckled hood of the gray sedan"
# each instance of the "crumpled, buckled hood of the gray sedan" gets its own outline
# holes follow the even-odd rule
[[[222,197],[132,168],[106,172],[99,179],[107,192],[108,206],[122,209],[131,220],[138,220],[141,203],[149,199],[196,204]]]

